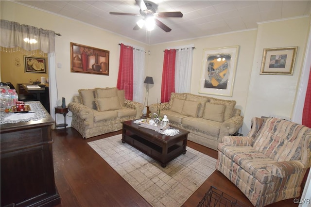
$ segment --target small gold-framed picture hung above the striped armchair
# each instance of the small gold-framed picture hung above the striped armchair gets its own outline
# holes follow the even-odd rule
[[[260,75],[293,75],[297,49],[264,48]]]

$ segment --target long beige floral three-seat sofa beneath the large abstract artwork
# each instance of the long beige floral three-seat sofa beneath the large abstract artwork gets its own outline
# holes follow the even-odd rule
[[[190,131],[188,140],[217,150],[225,135],[236,133],[243,124],[236,101],[190,93],[172,93],[170,101],[149,106],[151,113],[167,115],[172,126]]]

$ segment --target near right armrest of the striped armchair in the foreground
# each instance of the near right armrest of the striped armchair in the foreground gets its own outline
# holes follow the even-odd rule
[[[286,177],[288,175],[300,173],[306,170],[304,164],[299,160],[281,161],[267,164],[267,171],[277,177]]]

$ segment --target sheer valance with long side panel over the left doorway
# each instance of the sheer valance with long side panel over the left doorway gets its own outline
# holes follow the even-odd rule
[[[40,51],[48,57],[50,78],[50,113],[54,116],[54,107],[57,102],[56,74],[55,74],[55,32],[29,25],[19,24],[1,19],[1,51],[22,51],[25,54]],[[36,51],[35,51],[36,50]],[[53,93],[51,93],[53,92]],[[54,117],[55,118],[55,117]]]

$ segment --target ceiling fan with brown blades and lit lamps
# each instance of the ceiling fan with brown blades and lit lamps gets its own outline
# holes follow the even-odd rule
[[[157,19],[159,18],[167,18],[167,17],[183,17],[183,14],[181,12],[156,12],[157,5],[152,1],[144,1],[144,0],[135,0],[138,4],[140,10],[139,14],[133,14],[133,13],[121,13],[121,12],[109,12],[111,15],[128,15],[128,16],[143,16],[143,19],[140,19],[133,30],[139,30],[143,27],[144,23],[147,23],[148,21],[154,22],[153,24],[160,27],[165,32],[170,32],[172,29],[166,26],[163,22]],[[140,23],[139,23],[140,22]],[[146,24],[147,26],[147,24]],[[152,30],[152,28],[147,30]]]

